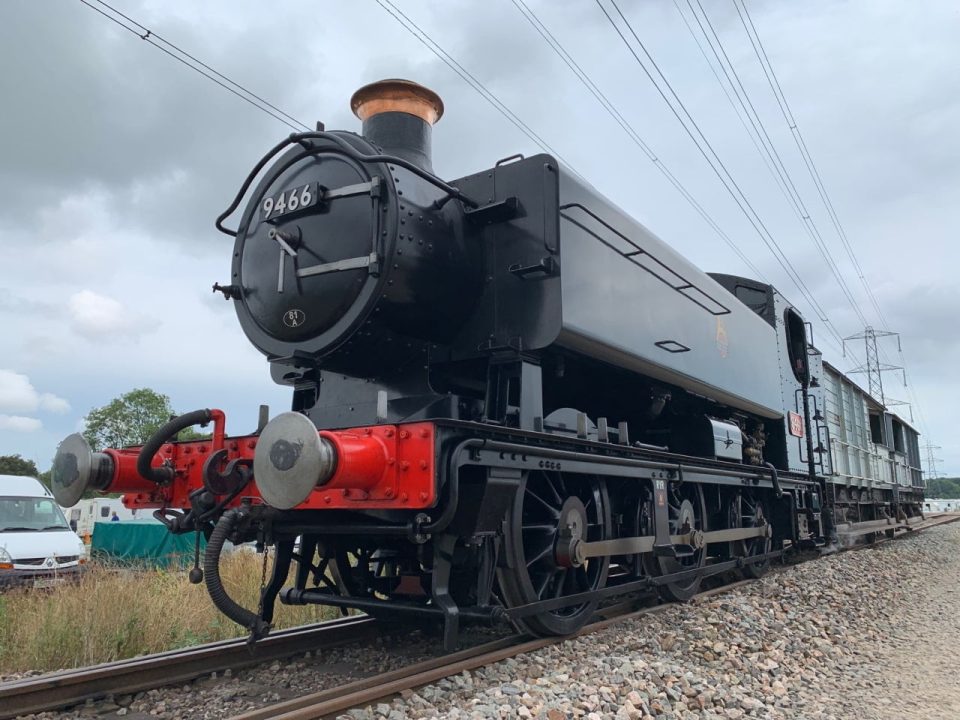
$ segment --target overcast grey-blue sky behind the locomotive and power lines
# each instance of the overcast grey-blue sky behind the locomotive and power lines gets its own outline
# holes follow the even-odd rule
[[[395,1],[681,253],[750,274],[511,0]],[[890,374],[885,388],[918,401],[922,442],[942,446],[941,472],[960,475],[960,12],[947,0],[747,2],[864,277],[902,335],[910,386]],[[446,104],[434,132],[441,176],[538,151],[374,0],[111,4],[310,125],[358,129],[347,101],[373,80],[432,87]],[[601,9],[528,6],[750,261],[814,316]],[[699,33],[687,1],[620,7],[836,332],[861,331],[688,29]],[[880,327],[735,6],[703,7],[856,304]],[[285,408],[287,392],[210,286],[227,280],[232,248],[213,219],[289,128],[78,0],[6,0],[0,20],[0,454],[45,469],[86,412],[135,387],[180,411],[219,406],[234,433],[252,428],[260,403]],[[862,361],[816,326],[829,361]],[[900,364],[895,342],[886,354]]]

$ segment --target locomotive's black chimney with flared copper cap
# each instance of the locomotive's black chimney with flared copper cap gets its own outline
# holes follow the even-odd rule
[[[433,172],[431,132],[443,115],[443,101],[433,90],[409,80],[380,80],[357,90],[350,109],[363,121],[363,136],[384,154]]]

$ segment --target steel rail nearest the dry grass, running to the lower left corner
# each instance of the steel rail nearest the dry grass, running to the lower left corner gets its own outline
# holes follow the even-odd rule
[[[366,615],[280,630],[251,645],[220,640],[85,668],[0,684],[0,718],[55,710],[105,695],[123,695],[181,683],[212,672],[247,667],[369,637],[377,622]]]

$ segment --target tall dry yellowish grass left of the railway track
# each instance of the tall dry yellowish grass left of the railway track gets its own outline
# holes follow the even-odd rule
[[[227,591],[256,609],[263,556],[223,558]],[[321,606],[276,605],[274,627],[335,617]],[[87,566],[76,584],[0,594],[0,675],[110,662],[245,635],[220,614],[186,570]]]

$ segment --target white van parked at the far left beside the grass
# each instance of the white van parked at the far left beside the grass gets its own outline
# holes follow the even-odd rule
[[[79,576],[83,542],[39,480],[0,475],[0,587],[50,587]]]

